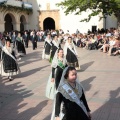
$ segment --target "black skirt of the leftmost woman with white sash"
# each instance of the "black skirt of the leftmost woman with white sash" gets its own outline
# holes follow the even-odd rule
[[[18,68],[16,61],[12,57],[7,55],[5,52],[3,52],[2,56],[4,72],[5,73],[17,72]]]

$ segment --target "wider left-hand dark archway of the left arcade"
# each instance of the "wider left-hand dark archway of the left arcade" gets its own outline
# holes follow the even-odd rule
[[[14,21],[11,14],[6,14],[4,21],[5,21],[5,31],[11,32],[12,30],[14,30],[13,28]]]

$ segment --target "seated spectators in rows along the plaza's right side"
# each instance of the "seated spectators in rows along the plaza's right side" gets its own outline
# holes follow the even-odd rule
[[[87,50],[100,50],[110,56],[120,54],[120,33],[117,29],[105,33],[72,34],[77,47]]]

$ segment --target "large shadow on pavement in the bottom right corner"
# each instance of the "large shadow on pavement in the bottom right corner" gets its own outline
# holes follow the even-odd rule
[[[104,91],[104,90],[103,90]],[[104,97],[104,95],[103,95]],[[92,113],[92,120],[120,119],[120,87],[110,91],[110,98],[99,109]]]

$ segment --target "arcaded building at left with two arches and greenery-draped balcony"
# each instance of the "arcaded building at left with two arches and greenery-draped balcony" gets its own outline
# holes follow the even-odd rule
[[[32,4],[27,0],[0,1],[0,32],[29,28],[29,14],[32,13]]]

